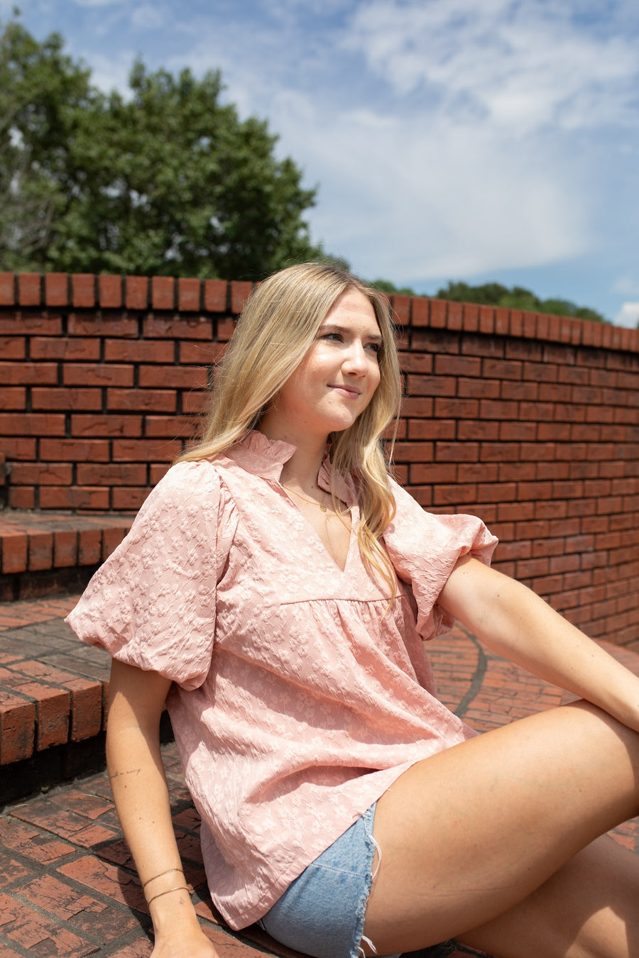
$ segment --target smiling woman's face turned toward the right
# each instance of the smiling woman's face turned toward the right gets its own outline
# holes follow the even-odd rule
[[[289,436],[298,433],[322,441],[331,432],[348,429],[377,389],[381,342],[369,300],[358,289],[342,293],[263,425],[272,430],[277,423]],[[280,428],[278,432],[284,438]]]

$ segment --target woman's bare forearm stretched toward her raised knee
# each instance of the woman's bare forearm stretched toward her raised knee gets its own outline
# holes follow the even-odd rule
[[[639,731],[639,678],[521,582],[464,556],[439,604],[489,649]]]

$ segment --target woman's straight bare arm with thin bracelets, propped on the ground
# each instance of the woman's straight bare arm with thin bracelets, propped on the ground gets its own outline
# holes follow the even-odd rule
[[[158,673],[113,660],[106,762],[122,829],[149,902],[153,958],[218,958],[186,890],[171,823],[159,736],[170,686]]]

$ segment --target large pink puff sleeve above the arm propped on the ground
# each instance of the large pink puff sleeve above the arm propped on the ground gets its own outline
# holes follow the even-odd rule
[[[173,466],[67,617],[82,642],[185,689],[215,642],[220,483],[206,461]]]

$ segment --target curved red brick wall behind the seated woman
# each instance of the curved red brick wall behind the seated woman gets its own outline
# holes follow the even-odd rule
[[[0,274],[12,509],[134,511],[196,434],[247,283]],[[496,564],[595,636],[639,640],[639,331],[393,298],[399,480],[480,515]]]

